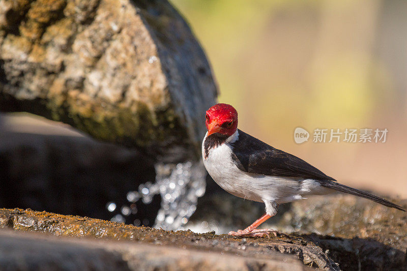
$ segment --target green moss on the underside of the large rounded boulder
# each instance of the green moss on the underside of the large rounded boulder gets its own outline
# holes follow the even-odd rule
[[[130,109],[100,99],[83,101],[80,93],[67,96],[63,104],[60,104],[60,98],[55,96],[47,102],[52,119],[68,123],[96,139],[138,147],[147,153],[156,153],[159,147],[188,141],[186,128],[181,125],[171,105],[151,111],[142,102],[134,102]]]

